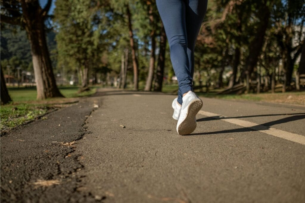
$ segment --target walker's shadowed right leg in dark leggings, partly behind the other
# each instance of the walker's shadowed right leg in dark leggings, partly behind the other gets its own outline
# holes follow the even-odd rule
[[[187,54],[189,61],[189,72],[194,76],[194,49],[197,36],[206,14],[207,0],[186,0],[185,1],[185,22],[187,33]]]

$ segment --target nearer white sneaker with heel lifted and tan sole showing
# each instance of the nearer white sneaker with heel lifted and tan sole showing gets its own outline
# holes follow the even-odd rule
[[[196,114],[201,109],[203,103],[197,95],[189,91],[182,98],[182,107],[177,123],[177,132],[179,135],[188,135],[196,129]]]

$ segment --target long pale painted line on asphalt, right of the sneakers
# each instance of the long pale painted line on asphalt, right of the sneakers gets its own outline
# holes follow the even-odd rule
[[[256,131],[266,133],[268,135],[273,135],[275,137],[283,138],[283,139],[286,139],[286,140],[290,140],[292,142],[296,142],[296,143],[305,145],[305,136],[302,136],[302,135],[282,131],[282,130],[279,130],[279,129],[276,129],[276,128],[273,128],[273,127],[266,127],[266,126],[263,126],[263,125],[259,125],[259,124],[256,124],[256,123],[246,121],[246,120],[239,120],[239,119],[236,119],[236,118],[226,118],[228,116],[222,116],[222,115],[218,115],[218,114],[215,114],[215,113],[210,113],[210,112],[207,112],[207,111],[200,110],[198,113],[201,114],[201,115],[204,115],[204,116],[214,117],[215,119],[223,120],[223,121],[226,121],[226,122],[231,123],[231,124],[239,125],[239,126],[242,126],[242,127],[247,127],[247,128],[250,128],[250,129],[253,129],[253,130],[256,130]]]

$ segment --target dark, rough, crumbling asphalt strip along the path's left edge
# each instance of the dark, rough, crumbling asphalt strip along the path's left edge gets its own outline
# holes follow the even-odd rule
[[[96,202],[105,199],[96,199],[90,192],[78,190],[82,187],[83,176],[77,172],[84,169],[79,161],[81,154],[74,147],[58,145],[81,140],[91,133],[84,127],[94,111],[90,103],[80,101],[52,111],[47,114],[48,119],[34,120],[1,137],[1,202]],[[79,108],[76,108],[78,104]]]

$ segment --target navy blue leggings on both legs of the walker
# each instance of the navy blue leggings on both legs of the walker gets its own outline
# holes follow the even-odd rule
[[[170,60],[178,79],[178,103],[192,88],[194,48],[207,0],[156,0],[170,45]]]

